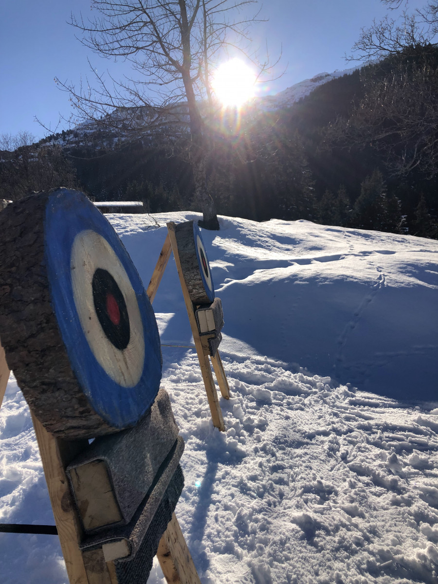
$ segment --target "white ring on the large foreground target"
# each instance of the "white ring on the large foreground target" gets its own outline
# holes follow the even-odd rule
[[[120,350],[107,338],[96,314],[92,281],[96,269],[109,272],[123,294],[128,311],[130,339]],[[144,366],[144,333],[137,298],[126,270],[102,235],[85,230],[75,237],[70,256],[73,298],[85,338],[107,376],[121,387],[134,387]]]

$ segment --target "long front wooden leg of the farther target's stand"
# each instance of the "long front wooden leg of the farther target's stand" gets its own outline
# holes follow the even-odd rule
[[[194,315],[193,303],[190,300],[189,291],[187,290],[186,283],[184,281],[184,276],[181,269],[181,262],[179,260],[178,244],[176,243],[175,237],[175,223],[171,221],[167,224],[169,238],[171,240],[173,256],[175,257],[176,269],[178,270],[179,281],[181,284],[184,301],[186,304],[187,315],[189,315],[190,326],[192,327],[194,346],[196,347],[196,353],[199,359],[199,364],[201,367],[201,374],[204,380],[204,385],[206,387],[208,405],[210,406],[211,419],[213,420],[213,425],[217,427],[221,432],[225,431],[224,417],[222,415],[221,406],[217,397],[217,390],[214,385],[213,374],[211,373],[210,361],[208,360],[208,354],[205,354],[204,347],[201,343],[201,338],[198,331],[198,325],[196,322],[196,316]]]

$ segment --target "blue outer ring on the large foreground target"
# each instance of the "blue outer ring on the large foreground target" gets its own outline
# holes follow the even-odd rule
[[[134,289],[144,331],[145,356],[137,385],[122,387],[96,361],[82,330],[70,276],[71,248],[76,235],[96,231],[109,242]],[[44,255],[51,304],[70,366],[96,413],[114,429],[133,426],[154,402],[161,380],[161,346],[157,321],[140,276],[113,227],[77,191],[63,190],[48,197],[44,224]]]

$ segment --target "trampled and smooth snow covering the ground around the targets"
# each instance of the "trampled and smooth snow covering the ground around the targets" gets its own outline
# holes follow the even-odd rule
[[[108,217],[147,285],[165,222],[199,215]],[[220,223],[203,238],[224,307],[226,433],[187,348],[173,258],[154,301],[162,384],[186,440],[176,515],[201,582],[438,582],[438,243]],[[12,376],[0,456],[0,522],[53,523]],[[0,534],[0,557],[2,584],[67,582],[54,536]],[[148,582],[165,584],[158,564]]]

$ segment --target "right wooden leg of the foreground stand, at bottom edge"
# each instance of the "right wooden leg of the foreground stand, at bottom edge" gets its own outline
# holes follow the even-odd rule
[[[169,584],[201,584],[175,513],[159,542],[157,558]]]

